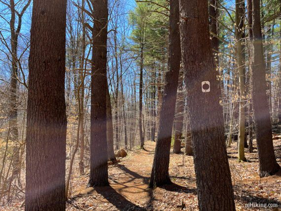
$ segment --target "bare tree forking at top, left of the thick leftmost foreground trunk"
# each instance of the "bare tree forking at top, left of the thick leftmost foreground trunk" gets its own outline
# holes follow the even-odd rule
[[[12,186],[13,181],[17,178],[18,183],[21,184],[20,181],[20,171],[21,171],[21,160],[20,160],[20,140],[19,140],[19,128],[18,128],[18,80],[19,74],[22,69],[20,68],[20,59],[18,56],[18,43],[19,36],[22,29],[22,18],[25,14],[27,8],[30,5],[31,0],[23,2],[15,2],[14,0],[10,0],[9,9],[10,9],[10,20],[6,20],[9,23],[10,29],[10,46],[7,45],[6,41],[2,41],[4,45],[9,49],[11,53],[11,79],[10,79],[10,88],[9,88],[9,141],[13,143],[13,169],[12,176],[9,178],[9,190],[7,200],[10,200],[10,188]],[[2,34],[1,34],[2,35]],[[20,71],[21,70],[21,71]],[[24,76],[24,75],[23,75]],[[26,82],[21,82],[23,85],[26,85]]]

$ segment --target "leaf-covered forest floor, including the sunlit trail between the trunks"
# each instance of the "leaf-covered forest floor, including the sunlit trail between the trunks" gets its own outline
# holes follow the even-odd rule
[[[255,143],[255,140],[254,140]],[[281,165],[281,139],[274,140],[275,153]],[[256,147],[254,145],[254,147]],[[155,142],[146,141],[143,150],[129,151],[128,156],[108,168],[109,187],[86,188],[88,174],[73,176],[72,194],[67,211],[197,211],[198,199],[192,156],[170,156],[172,185],[149,189],[149,177]],[[277,204],[281,210],[281,172],[276,176],[259,178],[257,150],[248,153],[249,162],[237,162],[237,142],[228,148],[237,211],[267,210],[246,208],[248,203]],[[0,207],[0,210],[23,210],[21,202]]]

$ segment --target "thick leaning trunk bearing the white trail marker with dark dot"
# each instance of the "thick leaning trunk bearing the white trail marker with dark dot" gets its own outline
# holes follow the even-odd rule
[[[199,207],[201,211],[235,211],[211,50],[208,0],[180,0],[180,17]],[[210,92],[202,92],[203,81],[210,82]]]

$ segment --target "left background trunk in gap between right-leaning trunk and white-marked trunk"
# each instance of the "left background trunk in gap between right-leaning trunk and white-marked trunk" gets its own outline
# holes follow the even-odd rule
[[[181,133],[183,127],[183,118],[184,118],[184,91],[183,91],[183,71],[180,72],[178,78],[178,92],[177,92],[177,103],[176,103],[176,129],[175,129],[175,143],[174,143],[174,153],[180,153],[181,148]]]

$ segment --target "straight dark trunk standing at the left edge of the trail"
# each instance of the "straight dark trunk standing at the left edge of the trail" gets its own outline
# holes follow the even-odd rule
[[[91,93],[91,155],[88,187],[107,186],[106,142],[106,46],[107,0],[94,0],[95,20],[93,28],[92,93]]]

